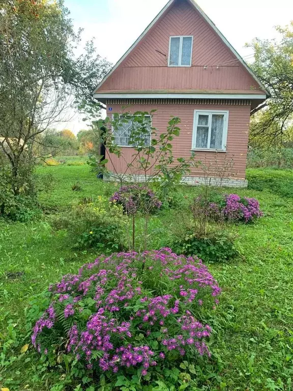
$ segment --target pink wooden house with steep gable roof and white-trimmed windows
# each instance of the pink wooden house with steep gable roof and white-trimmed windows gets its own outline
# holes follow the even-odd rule
[[[170,0],[135,41],[93,95],[107,106],[107,116],[156,109],[152,126],[166,131],[170,116],[181,118],[174,140],[175,157],[218,164],[233,159],[233,177],[223,183],[246,187],[250,111],[268,93],[237,51],[194,0]],[[131,159],[127,124],[115,132],[116,143]],[[111,157],[124,172],[122,159]],[[110,164],[110,163],[108,163]],[[111,169],[111,166],[109,166]],[[200,167],[184,178],[203,182]]]

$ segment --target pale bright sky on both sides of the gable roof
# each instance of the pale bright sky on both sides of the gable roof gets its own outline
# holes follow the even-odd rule
[[[96,38],[98,53],[113,64],[128,50],[167,0],[65,0],[76,28],[82,27],[83,40]],[[274,26],[293,20],[293,0],[197,0],[233,47],[243,56],[254,37],[276,38]],[[249,57],[247,57],[249,62]],[[58,128],[77,133],[84,123],[76,118]]]

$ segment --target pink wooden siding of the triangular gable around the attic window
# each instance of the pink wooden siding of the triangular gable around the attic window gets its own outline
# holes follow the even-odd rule
[[[169,37],[178,35],[193,36],[191,67],[168,67]],[[174,4],[97,92],[166,89],[260,90],[186,0]]]

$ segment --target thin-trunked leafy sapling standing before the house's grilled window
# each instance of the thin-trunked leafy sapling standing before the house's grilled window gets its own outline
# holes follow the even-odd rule
[[[135,217],[140,211],[145,218],[144,249],[147,248],[148,224],[151,211],[154,208],[154,199],[145,197],[151,186],[157,189],[157,196],[163,198],[172,186],[179,185],[184,175],[190,173],[190,167],[196,166],[194,154],[188,158],[175,158],[172,142],[180,135],[178,117],[171,117],[165,132],[159,132],[152,126],[151,113],[136,111],[136,113],[113,114],[113,118],[106,118],[94,123],[99,130],[100,142],[104,144],[107,159],[103,156],[92,156],[89,164],[97,173],[103,173],[110,180],[120,185],[131,185],[135,190],[135,198],[139,200],[139,208],[133,205],[132,200],[125,199],[125,208],[132,216],[132,248],[135,247]],[[133,148],[130,161],[125,156],[125,149],[116,144],[115,133],[124,124],[128,124],[129,145]],[[120,172],[115,166],[113,156],[125,162],[125,170]],[[112,171],[107,167],[111,163]],[[131,201],[131,202],[130,202]]]

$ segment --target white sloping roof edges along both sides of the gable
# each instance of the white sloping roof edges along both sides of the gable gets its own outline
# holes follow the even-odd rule
[[[127,50],[127,52],[121,57],[121,59],[113,66],[110,72],[103,78],[103,80],[99,83],[99,85],[93,91],[93,95],[96,91],[103,85],[103,83],[108,79],[108,77],[121,65],[121,63],[128,57],[128,55],[134,50],[134,48],[138,45],[138,43],[148,34],[148,32],[152,29],[152,27],[157,23],[157,21],[169,10],[169,8],[176,2],[177,0],[169,0],[165,7],[158,13],[155,19],[148,25],[148,27],[143,31],[143,33],[137,38],[137,40],[133,43],[133,45]],[[231,52],[235,55],[235,57],[239,60],[239,62],[244,66],[244,68],[249,72],[249,74],[253,77],[253,79],[258,83],[260,88],[269,96],[268,91],[265,86],[262,85],[261,81],[252,71],[252,69],[246,64],[241,55],[237,52],[235,48],[227,41],[224,35],[219,31],[215,23],[208,17],[208,15],[203,12],[203,10],[199,7],[199,5],[195,2],[195,0],[186,0],[191,6],[193,6],[196,11],[201,15],[201,17],[210,25],[212,30],[220,37],[220,39],[224,42],[224,44],[231,50]]]

